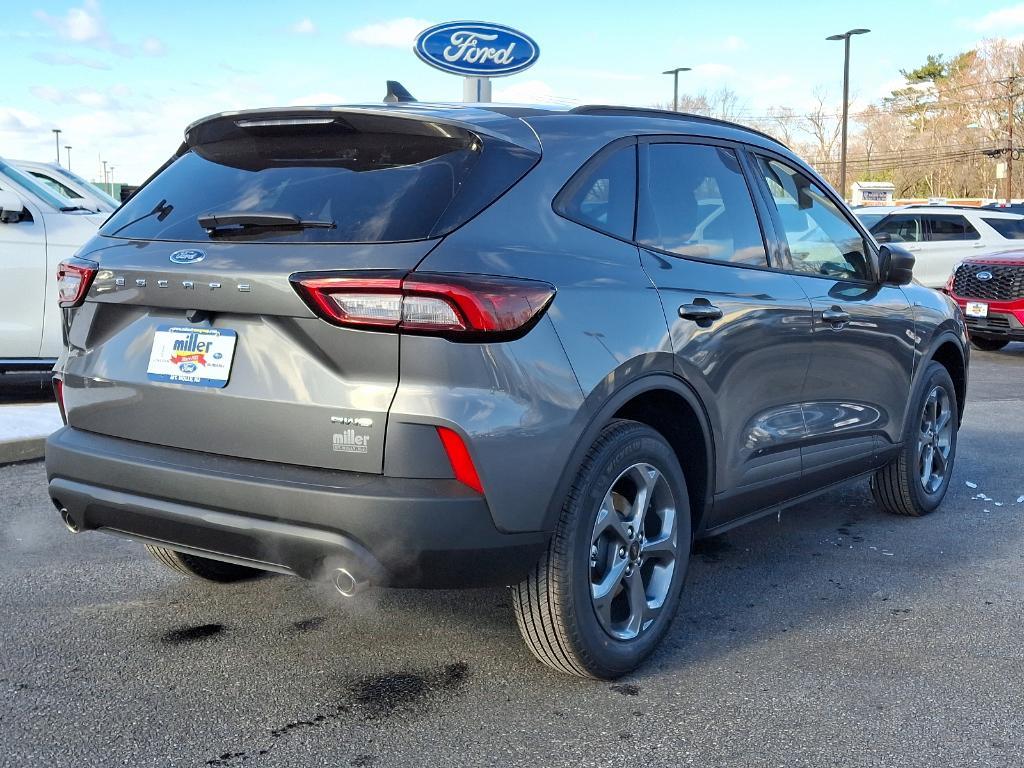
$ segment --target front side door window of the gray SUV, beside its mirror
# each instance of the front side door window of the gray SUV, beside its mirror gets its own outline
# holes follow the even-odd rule
[[[864,239],[824,190],[783,163],[759,157],[758,164],[782,220],[794,268],[870,280]]]

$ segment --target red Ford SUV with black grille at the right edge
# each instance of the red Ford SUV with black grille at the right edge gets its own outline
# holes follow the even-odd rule
[[[994,352],[1024,341],[1024,249],[965,259],[946,292],[964,311],[978,349]]]

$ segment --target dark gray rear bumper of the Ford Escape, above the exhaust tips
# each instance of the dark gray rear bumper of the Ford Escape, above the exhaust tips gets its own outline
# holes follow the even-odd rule
[[[373,584],[521,581],[543,532],[503,534],[456,480],[232,459],[65,427],[46,442],[49,493],[81,530],[105,530],[305,579],[346,567]]]

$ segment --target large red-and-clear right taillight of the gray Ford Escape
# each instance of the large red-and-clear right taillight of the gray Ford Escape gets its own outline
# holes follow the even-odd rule
[[[462,340],[521,334],[555,295],[553,286],[538,281],[432,272],[295,274],[292,285],[314,312],[338,326]]]

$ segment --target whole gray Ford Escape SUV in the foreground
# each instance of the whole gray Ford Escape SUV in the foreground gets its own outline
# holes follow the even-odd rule
[[[542,662],[614,678],[695,538],[859,477],[939,505],[968,343],[912,264],[715,120],[210,117],[61,265],[49,494],[212,581],[510,585]]]

